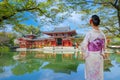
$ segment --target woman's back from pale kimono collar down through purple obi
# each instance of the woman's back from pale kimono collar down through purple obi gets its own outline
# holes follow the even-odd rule
[[[105,47],[105,36],[102,31],[92,30],[89,33],[88,51],[102,51]]]

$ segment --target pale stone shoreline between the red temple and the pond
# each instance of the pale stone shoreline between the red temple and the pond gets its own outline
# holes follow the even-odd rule
[[[75,47],[63,47],[63,46],[57,46],[57,47],[43,47],[43,48],[34,48],[34,49],[28,49],[28,48],[17,48],[16,51],[41,51],[44,53],[75,53],[75,52],[80,52],[81,53],[81,48],[75,48]],[[106,49],[105,53],[114,53],[114,50],[111,49]]]

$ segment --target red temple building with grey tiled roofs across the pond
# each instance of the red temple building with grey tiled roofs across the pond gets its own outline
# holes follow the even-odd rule
[[[72,38],[76,35],[70,27],[55,27],[52,31],[43,31],[50,37],[38,38],[34,34],[28,34],[18,39],[20,48],[42,48],[45,46],[72,46]]]

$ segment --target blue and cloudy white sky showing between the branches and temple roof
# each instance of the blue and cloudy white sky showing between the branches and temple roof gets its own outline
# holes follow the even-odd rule
[[[58,14],[58,16],[61,14]],[[89,23],[90,16],[86,21],[82,21],[82,16],[83,14],[78,14],[76,12],[72,12],[71,16],[65,19],[62,23],[59,23],[57,25],[53,24],[46,24],[44,26],[41,26],[40,30],[41,31],[51,31],[54,29],[54,27],[65,27],[69,26],[71,30],[76,30],[78,34],[85,34],[88,30],[91,29],[91,27],[86,27],[85,24]],[[30,14],[29,12],[25,13],[25,17],[29,17],[28,20],[22,22],[23,24],[26,25],[33,25],[33,26],[39,26],[39,22],[41,21],[41,18],[44,18],[44,16],[38,16],[37,17],[37,22],[33,18],[33,14]],[[48,19],[49,20],[49,19]]]

